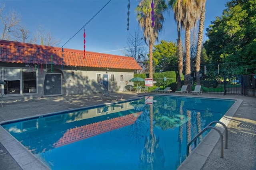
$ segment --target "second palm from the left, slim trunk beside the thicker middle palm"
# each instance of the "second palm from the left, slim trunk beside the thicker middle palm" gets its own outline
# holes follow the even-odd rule
[[[174,20],[177,22],[177,31],[178,31],[178,69],[179,69],[179,77],[178,77],[178,86],[177,89],[181,87],[181,77],[183,71],[183,51],[182,51],[182,40],[180,38],[180,24],[182,22],[182,0],[170,0],[168,5],[174,12]]]

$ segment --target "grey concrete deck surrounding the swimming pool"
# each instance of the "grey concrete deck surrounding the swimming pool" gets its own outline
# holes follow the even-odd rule
[[[118,94],[121,93],[111,93]],[[138,95],[144,95],[140,93]],[[151,93],[150,93],[151,94]],[[159,94],[159,93],[156,93]],[[0,123],[47,113],[111,103],[102,101],[100,93],[69,95],[4,101],[0,107]],[[138,97],[136,93],[122,92],[123,101]],[[163,95],[161,93],[161,95]],[[165,94],[164,94],[165,95]],[[179,167],[180,170],[255,170],[256,169],[256,98],[241,95],[167,95],[236,99],[236,103],[222,118],[228,126],[228,149],[220,158],[219,134],[211,130],[206,138]],[[222,129],[219,125],[216,127]],[[1,170],[49,169],[0,126]]]

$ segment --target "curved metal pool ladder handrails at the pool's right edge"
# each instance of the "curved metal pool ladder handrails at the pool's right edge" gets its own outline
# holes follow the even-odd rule
[[[188,152],[189,152],[189,146],[190,144],[192,144],[192,142],[194,142],[194,145],[196,146],[196,140],[197,138],[206,130],[208,129],[214,129],[216,130],[219,134],[220,134],[220,158],[224,158],[223,156],[223,134],[220,132],[220,130],[216,127],[212,127],[211,125],[215,124],[215,123],[219,123],[221,124],[224,128],[225,128],[225,149],[228,148],[228,128],[226,127],[226,125],[220,121],[213,121],[211,122],[209,125],[207,125],[207,127],[205,127],[200,133],[198,133],[188,144],[187,144],[187,156],[188,156]]]

